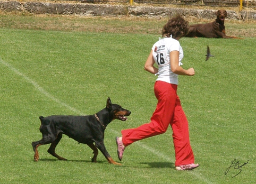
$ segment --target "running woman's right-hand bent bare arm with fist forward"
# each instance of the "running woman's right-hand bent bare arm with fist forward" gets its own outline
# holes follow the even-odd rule
[[[193,76],[195,74],[193,68],[185,70],[181,66],[178,66],[179,56],[180,52],[178,51],[170,52],[170,69],[172,70],[172,72],[176,73],[177,75]]]

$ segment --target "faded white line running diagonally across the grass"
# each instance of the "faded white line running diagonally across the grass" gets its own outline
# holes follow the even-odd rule
[[[55,102],[57,102],[58,104],[66,107],[67,109],[70,109],[70,111],[73,111],[74,113],[76,114],[79,114],[79,115],[82,115],[82,113],[78,110],[78,109],[75,109],[73,107],[71,107],[70,105],[67,105],[63,102],[61,102],[61,100],[55,98],[54,96],[50,95],[46,90],[44,90],[44,88],[40,87],[37,82],[33,81],[32,79],[30,79],[29,77],[25,76],[22,72],[20,72],[18,69],[14,68],[13,66],[10,65],[10,63],[7,63],[5,61],[2,60],[2,58],[0,57],[0,63],[2,63],[3,65],[5,65],[6,67],[10,68],[12,71],[14,71],[17,75],[23,77],[25,79],[25,81],[31,83],[37,90],[40,91],[40,93],[44,94],[46,97],[54,100]],[[111,131],[113,132],[114,134],[118,135],[120,134],[120,132],[117,132],[115,130],[112,130],[110,128],[108,128],[108,131]],[[157,157],[160,157],[160,158],[163,158],[169,162],[175,162],[173,159],[170,159],[170,156],[167,156],[161,152],[159,152],[158,150],[155,150],[155,149],[152,149],[151,147],[143,144],[143,143],[140,143],[140,142],[135,142],[134,144],[137,144],[138,146],[140,146],[141,148],[145,149],[145,150],[148,150],[149,152],[157,155]],[[180,171],[180,172],[183,172],[183,171]],[[202,180],[203,182],[206,182],[206,183],[212,183],[210,181],[208,181],[206,178],[200,176],[200,173],[196,173],[196,172],[187,172],[189,174],[192,174],[194,175],[195,177],[199,178],[200,180]]]

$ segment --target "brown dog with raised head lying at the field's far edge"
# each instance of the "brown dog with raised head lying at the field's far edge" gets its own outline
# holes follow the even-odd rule
[[[218,10],[215,14],[217,18],[214,22],[190,25],[189,33],[185,37],[241,39],[236,36],[226,35],[224,25],[225,18],[227,17],[226,10]]]

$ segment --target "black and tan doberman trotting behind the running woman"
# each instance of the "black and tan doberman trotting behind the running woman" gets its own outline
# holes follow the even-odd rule
[[[34,160],[39,160],[38,146],[49,143],[52,144],[48,149],[48,153],[59,160],[66,160],[55,153],[55,148],[62,139],[62,134],[65,134],[79,143],[87,144],[93,150],[94,155],[91,162],[97,162],[99,149],[109,163],[121,165],[115,162],[108,154],[104,145],[104,131],[107,125],[114,119],[126,121],[127,118],[125,116],[129,116],[130,114],[131,111],[122,108],[120,105],[112,104],[110,98],[108,98],[106,108],[94,115],[40,116],[42,139],[32,142],[33,150],[35,151]]]

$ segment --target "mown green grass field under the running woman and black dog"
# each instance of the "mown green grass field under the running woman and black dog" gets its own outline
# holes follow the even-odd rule
[[[107,97],[132,111],[128,121],[115,120],[105,131],[106,148],[118,161],[115,136],[149,122],[157,103],[156,76],[143,66],[159,36],[2,27],[0,182],[255,183],[255,37],[180,40],[183,67],[196,72],[180,76],[178,94],[198,169],[175,170],[170,127],[127,147],[122,166],[109,164],[101,153],[91,163],[91,149],[65,135],[56,152],[68,161],[48,154],[49,145],[40,146],[40,159],[33,161],[31,142],[41,139],[39,116],[93,114]],[[206,45],[215,56],[208,61]],[[225,174],[235,159],[239,164]]]

